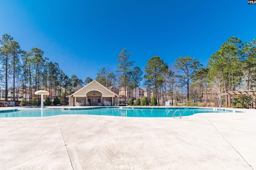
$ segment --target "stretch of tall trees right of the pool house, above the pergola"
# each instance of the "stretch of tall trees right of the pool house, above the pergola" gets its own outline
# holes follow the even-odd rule
[[[152,57],[144,67],[144,72],[128,62],[130,53],[123,49],[117,62],[117,72],[106,72],[102,68],[96,80],[108,87],[133,89],[143,85],[156,97],[158,104],[167,100],[195,100],[196,102],[217,102],[221,104],[222,93],[234,90],[256,89],[256,41],[242,42],[238,37],[230,37],[219,50],[210,56],[203,67],[200,61],[189,56],[174,59],[174,67],[165,63],[160,56]],[[121,68],[121,69],[120,69]],[[115,76],[117,75],[117,76]],[[143,76],[144,75],[144,76]],[[186,93],[186,95],[184,95]],[[134,96],[136,98],[136,96]]]

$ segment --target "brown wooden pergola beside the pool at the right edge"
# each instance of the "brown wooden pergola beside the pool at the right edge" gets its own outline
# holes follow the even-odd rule
[[[222,96],[225,96],[225,103],[226,103],[226,108],[230,108],[231,104],[231,95],[241,95],[241,94],[246,94],[246,95],[253,95],[252,101],[253,101],[253,108],[256,109],[256,90],[243,90],[243,91],[230,91],[226,93],[222,93]]]

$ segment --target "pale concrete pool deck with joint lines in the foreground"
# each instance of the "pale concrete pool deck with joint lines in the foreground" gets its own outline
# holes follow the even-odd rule
[[[0,118],[0,170],[256,170],[256,110],[240,110]]]

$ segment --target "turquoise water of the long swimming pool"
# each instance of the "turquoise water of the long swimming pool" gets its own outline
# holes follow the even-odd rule
[[[108,115],[108,116],[126,116],[126,117],[165,117],[166,113],[172,109],[180,110],[181,116],[193,115],[195,113],[210,112],[233,112],[232,110],[215,108],[194,108],[194,107],[91,107],[83,109],[69,108],[30,108],[30,109],[14,109],[11,111],[0,111],[0,117],[44,117],[54,115]],[[179,117],[177,111],[175,117]],[[166,115],[172,117],[172,111]]]

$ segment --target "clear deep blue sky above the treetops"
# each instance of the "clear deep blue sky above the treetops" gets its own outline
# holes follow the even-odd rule
[[[0,36],[24,50],[38,47],[71,76],[95,79],[115,72],[118,54],[131,52],[144,71],[160,56],[190,56],[206,66],[231,36],[256,39],[256,5],[247,0],[0,0]]]

